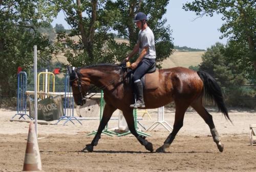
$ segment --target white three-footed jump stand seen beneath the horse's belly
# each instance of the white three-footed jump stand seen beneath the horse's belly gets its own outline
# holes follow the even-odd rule
[[[148,127],[146,131],[152,131],[159,124],[161,124],[168,132],[173,130],[173,127],[164,120],[164,106],[158,108],[157,121]]]

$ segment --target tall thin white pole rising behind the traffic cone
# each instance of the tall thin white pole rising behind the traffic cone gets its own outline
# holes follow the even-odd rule
[[[34,46],[35,134],[37,137],[37,47]]]

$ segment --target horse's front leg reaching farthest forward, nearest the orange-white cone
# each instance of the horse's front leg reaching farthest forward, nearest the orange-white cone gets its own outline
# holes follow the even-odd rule
[[[93,138],[93,141],[91,142],[91,144],[87,144],[86,147],[82,149],[83,152],[93,152],[93,146],[96,146],[98,144],[101,132],[105,128],[106,124],[109,122],[115,110],[116,110],[116,107],[113,107],[112,105],[109,105],[109,104],[105,104],[102,119],[99,123],[98,131],[95,137]]]

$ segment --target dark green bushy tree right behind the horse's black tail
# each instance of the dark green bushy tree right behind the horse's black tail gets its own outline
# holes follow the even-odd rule
[[[230,60],[230,48],[220,43],[208,48],[202,56],[199,70],[209,73],[223,88],[225,103],[228,106],[255,107],[256,89],[245,84],[251,84],[246,79],[247,73],[239,62]],[[190,68],[190,67],[189,67]],[[248,68],[248,66],[246,66]],[[191,68],[190,68],[191,69]],[[208,103],[206,101],[206,103]]]

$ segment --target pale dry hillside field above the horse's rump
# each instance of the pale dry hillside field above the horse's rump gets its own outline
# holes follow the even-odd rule
[[[175,51],[169,58],[163,61],[162,68],[174,68],[174,67],[185,67],[197,66],[202,62],[202,55],[204,51],[199,52],[180,52]]]

